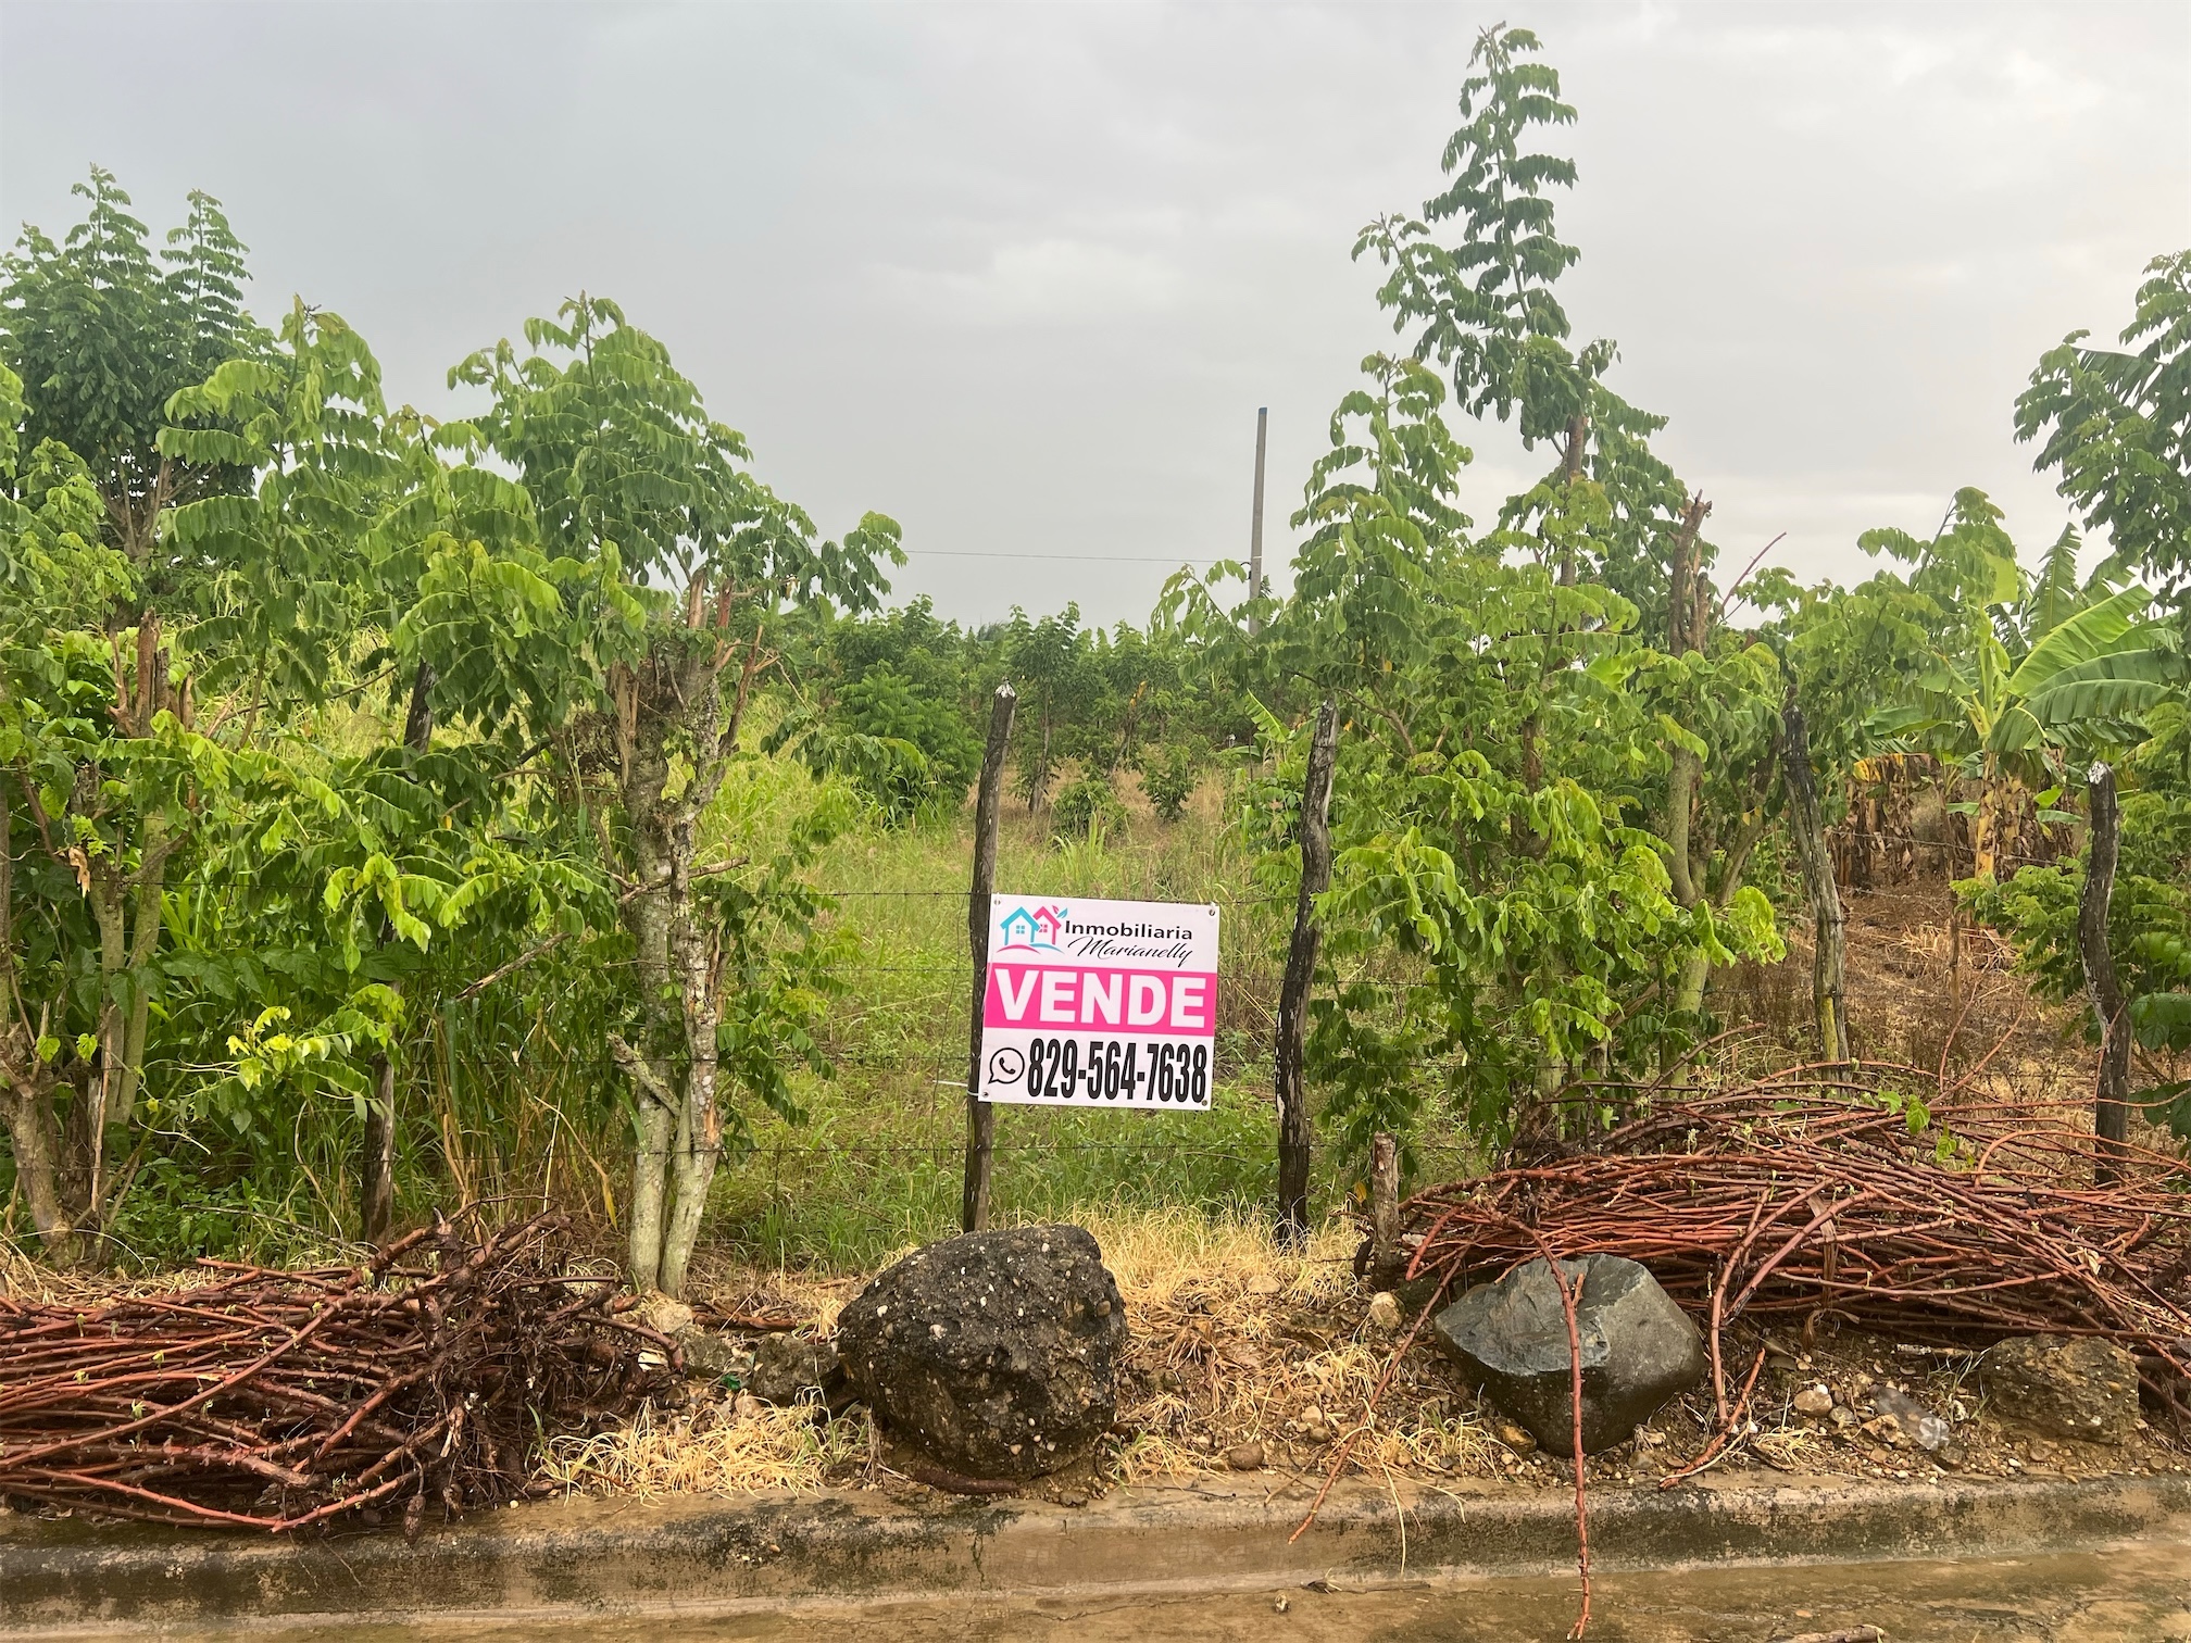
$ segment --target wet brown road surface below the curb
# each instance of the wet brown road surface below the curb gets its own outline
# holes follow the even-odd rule
[[[278,1643],[1527,1643],[1560,1639],[1573,1579],[1376,1590],[979,1597],[771,1615],[467,1619],[254,1630]],[[2191,1547],[1968,1562],[1602,1575],[1593,1643],[1773,1643],[1878,1625],[1893,1643],[2191,1643]],[[234,1636],[234,1632],[230,1632]]]

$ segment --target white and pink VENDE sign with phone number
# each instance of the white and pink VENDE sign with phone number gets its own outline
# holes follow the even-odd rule
[[[1216,907],[993,896],[988,920],[982,1100],[1209,1111]]]

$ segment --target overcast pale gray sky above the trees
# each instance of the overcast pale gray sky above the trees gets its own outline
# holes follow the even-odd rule
[[[1959,484],[2035,554],[2009,429],[2073,326],[2191,243],[2191,4],[0,4],[0,221],[99,162],[188,188],[254,307],[357,324],[390,397],[570,291],[662,335],[828,532],[905,526],[957,618],[1144,618],[1271,554],[1358,359],[1354,230],[1420,210],[1468,46],[1536,28],[1580,125],[1562,298],[1742,563],[1858,576]],[[1536,460],[1499,429],[1468,506]]]

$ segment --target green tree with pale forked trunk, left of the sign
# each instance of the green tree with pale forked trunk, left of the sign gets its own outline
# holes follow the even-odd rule
[[[631,1279],[675,1295],[725,1146],[723,1076],[789,1102],[765,1047],[815,979],[819,900],[798,872],[808,832],[765,870],[701,854],[738,756],[780,611],[811,600],[872,609],[898,528],[868,515],[841,543],[741,467],[745,440],[708,416],[668,351],[603,298],[526,324],[451,372],[484,386],[475,427],[524,478],[552,554],[603,581],[592,659],[598,710],[559,732],[598,815],[635,964],[635,1032],[611,1041],[635,1104]],[[789,933],[789,953],[782,938]],[[736,1139],[738,1113],[727,1111]]]

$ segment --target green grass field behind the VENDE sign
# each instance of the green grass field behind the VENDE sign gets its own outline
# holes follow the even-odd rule
[[[1216,900],[1223,914],[1218,1082],[1207,1113],[1034,1111],[999,1104],[999,1220],[1192,1207],[1269,1214],[1277,1174],[1271,1027],[1290,898],[1249,883],[1249,863],[1205,791],[1177,824],[1135,804],[1124,837],[1058,846],[1045,817],[1006,804],[997,889]],[[760,1115],[754,1152],[725,1163],[708,1242],[795,1268],[868,1268],[957,1231],[966,1139],[971,815],[841,839],[817,878],[846,892],[861,935],[850,995],[833,1014],[837,1076],[806,1078],[804,1124]],[[1330,1183],[1321,1183],[1330,1205]]]

